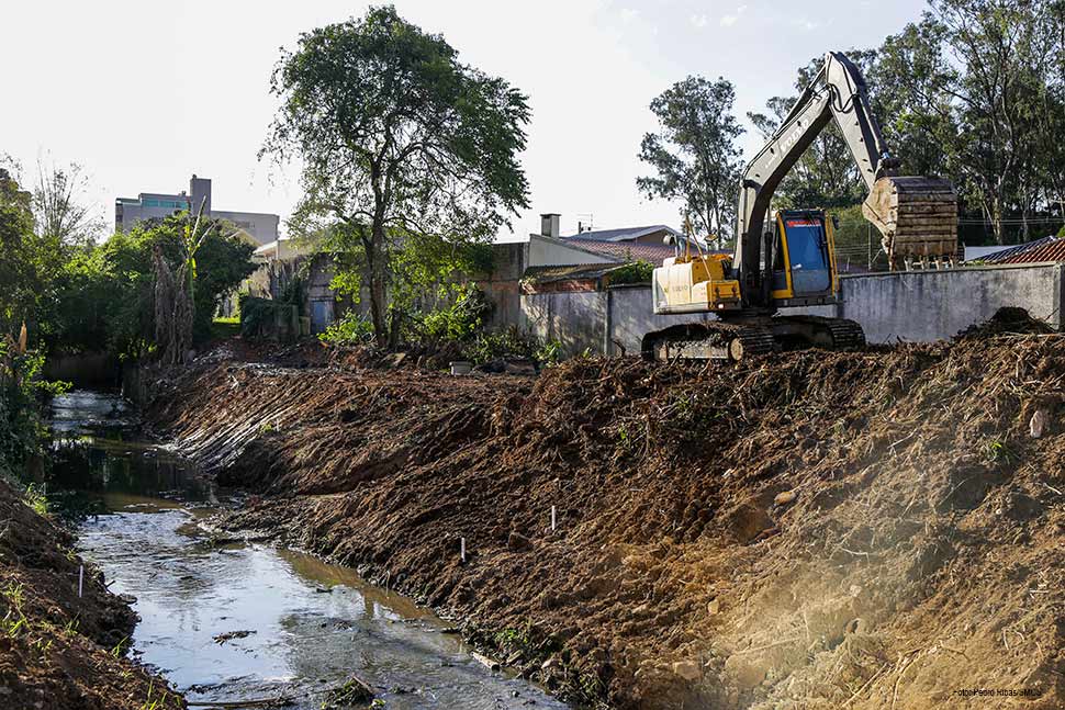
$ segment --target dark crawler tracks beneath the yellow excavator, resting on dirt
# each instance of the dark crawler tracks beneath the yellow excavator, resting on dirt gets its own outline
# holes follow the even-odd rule
[[[821,347],[845,350],[865,346],[854,320],[823,316],[756,317],[738,323],[692,323],[649,333],[642,354],[648,360],[721,360],[738,362],[780,350]]]

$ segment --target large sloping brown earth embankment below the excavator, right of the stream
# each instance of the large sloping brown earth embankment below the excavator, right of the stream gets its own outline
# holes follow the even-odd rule
[[[1004,329],[535,381],[203,364],[154,415],[268,494],[226,525],[473,620],[570,697],[1058,708],[1065,338]]]

